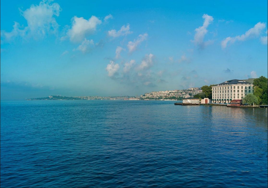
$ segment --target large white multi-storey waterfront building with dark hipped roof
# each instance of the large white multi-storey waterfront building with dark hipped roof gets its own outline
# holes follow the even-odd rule
[[[233,99],[242,99],[248,93],[253,93],[253,83],[237,79],[228,80],[212,86],[212,102],[229,103]]]

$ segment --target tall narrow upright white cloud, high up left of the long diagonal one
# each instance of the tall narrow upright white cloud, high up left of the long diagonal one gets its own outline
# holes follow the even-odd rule
[[[202,26],[195,29],[195,36],[194,40],[192,41],[193,43],[195,43],[195,45],[198,45],[200,48],[203,48],[204,46],[209,44],[206,42],[204,43],[204,37],[207,34],[207,27],[213,21],[213,17],[207,14],[204,14],[202,18],[204,19],[204,23]]]

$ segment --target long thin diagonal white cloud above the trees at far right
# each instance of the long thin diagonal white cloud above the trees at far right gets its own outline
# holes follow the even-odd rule
[[[233,44],[236,41],[245,41],[249,38],[258,37],[262,30],[266,28],[265,23],[258,22],[253,28],[250,28],[245,34],[237,35],[236,37],[227,37],[221,41],[221,47],[226,48],[228,43]]]

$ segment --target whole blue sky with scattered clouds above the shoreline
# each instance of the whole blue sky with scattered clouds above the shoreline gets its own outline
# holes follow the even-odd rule
[[[0,2],[1,99],[267,77],[267,1]]]

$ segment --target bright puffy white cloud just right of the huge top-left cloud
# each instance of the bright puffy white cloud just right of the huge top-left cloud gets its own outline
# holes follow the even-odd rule
[[[70,37],[70,40],[73,42],[82,41],[85,36],[90,33],[93,33],[96,30],[97,25],[101,24],[102,21],[99,20],[96,16],[91,16],[88,20],[83,17],[72,18],[72,27],[68,30],[67,35]]]

